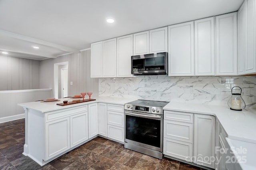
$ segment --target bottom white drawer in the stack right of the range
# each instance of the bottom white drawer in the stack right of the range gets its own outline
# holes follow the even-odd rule
[[[165,155],[192,162],[192,143],[164,138],[163,152]]]

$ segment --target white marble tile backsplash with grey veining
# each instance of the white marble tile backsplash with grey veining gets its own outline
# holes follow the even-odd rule
[[[99,96],[227,105],[234,86],[248,107],[256,107],[256,76],[168,77],[148,75],[99,79]],[[244,94],[245,89],[250,94]]]

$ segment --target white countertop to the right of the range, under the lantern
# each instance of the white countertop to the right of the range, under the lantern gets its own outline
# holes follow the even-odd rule
[[[228,138],[256,143],[256,109],[232,111],[228,106],[170,102],[164,110],[214,115]]]

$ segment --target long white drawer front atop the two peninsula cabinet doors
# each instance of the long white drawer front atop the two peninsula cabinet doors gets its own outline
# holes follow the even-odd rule
[[[79,107],[72,107],[72,108],[68,108],[68,109],[61,109],[58,111],[48,112],[48,113],[46,113],[46,122],[53,121],[60,117],[66,117],[70,114],[87,112],[87,111],[88,111],[87,105],[82,105]]]

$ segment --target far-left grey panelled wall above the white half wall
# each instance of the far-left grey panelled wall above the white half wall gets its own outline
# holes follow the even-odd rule
[[[0,91],[39,88],[40,61],[0,55]]]

